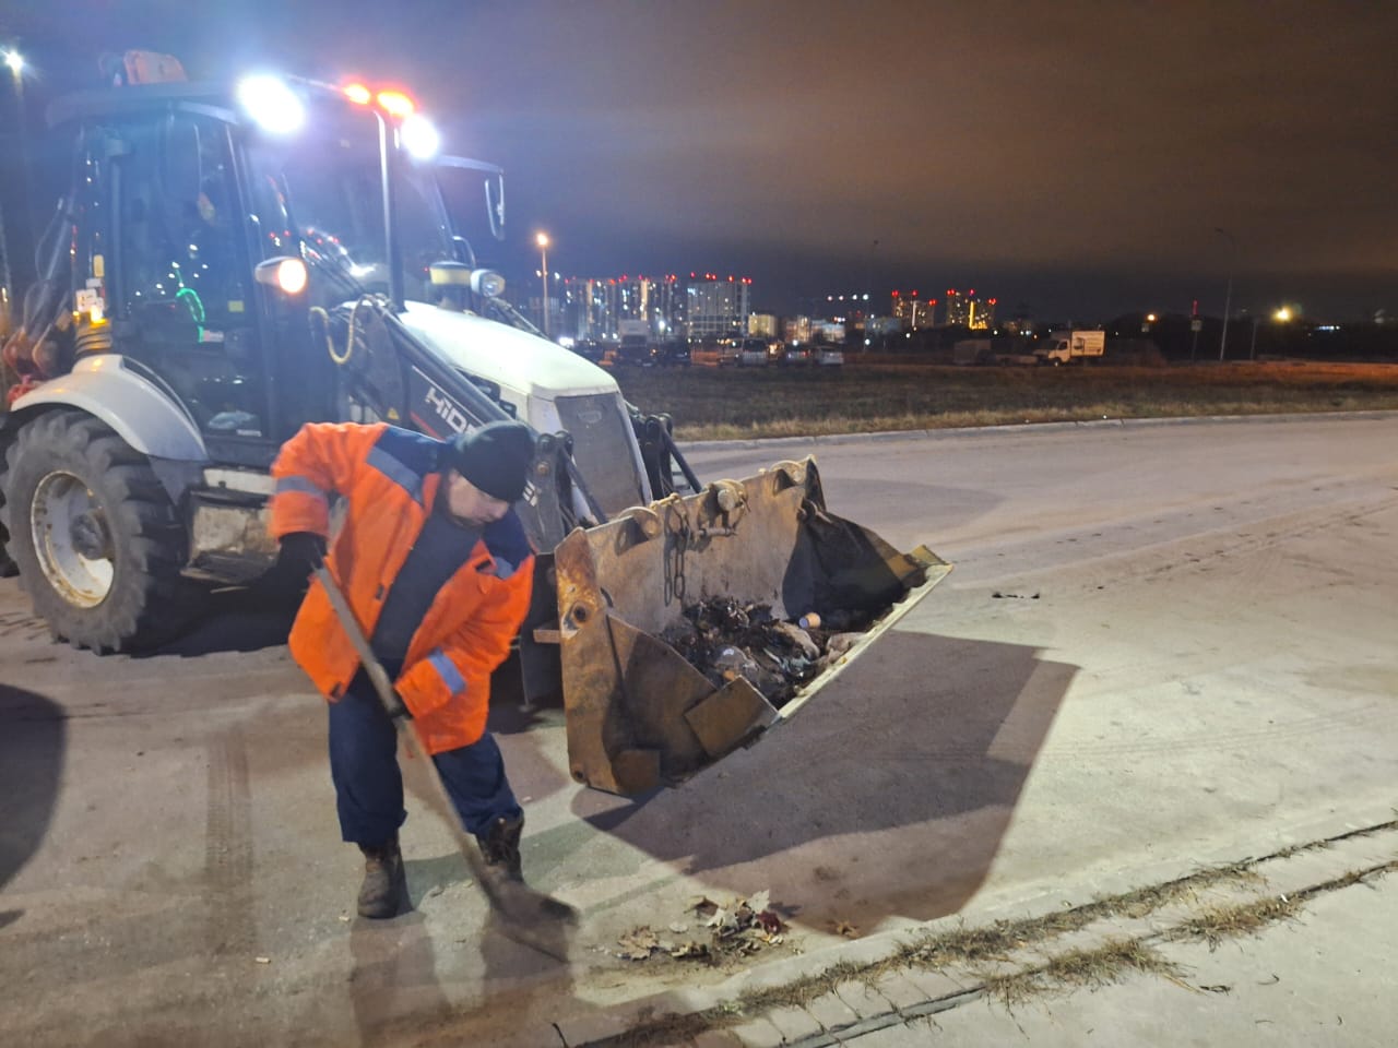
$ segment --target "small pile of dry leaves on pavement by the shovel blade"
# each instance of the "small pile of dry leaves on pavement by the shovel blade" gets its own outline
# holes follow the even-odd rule
[[[668,956],[707,964],[745,957],[783,942],[786,924],[770,905],[768,891],[735,898],[726,907],[712,898],[695,898],[688,908],[689,919],[672,922],[668,931],[657,932],[650,925],[640,925],[621,935],[617,956],[624,960]],[[693,938],[691,928],[700,938]]]

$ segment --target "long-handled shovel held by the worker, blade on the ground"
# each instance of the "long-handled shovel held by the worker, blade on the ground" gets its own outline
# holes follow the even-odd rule
[[[408,755],[412,757],[421,757],[422,764],[428,769],[428,778],[432,780],[432,784],[436,788],[438,801],[446,808],[446,822],[452,830],[456,845],[461,851],[466,865],[471,869],[471,876],[475,878],[475,883],[478,883],[481,890],[485,893],[485,898],[491,904],[492,914],[500,918],[500,932],[507,939],[513,939],[521,946],[538,950],[556,961],[566,961],[568,954],[562,950],[562,943],[558,942],[561,936],[558,935],[556,928],[559,922],[572,924],[576,919],[573,908],[566,903],[561,903],[556,898],[534,891],[533,889],[517,882],[499,880],[491,871],[487,871],[485,862],[477,854],[475,843],[461,826],[460,817],[456,813],[456,805],[452,803],[452,796],[446,792],[446,787],[442,784],[442,776],[438,773],[432,756],[422,749],[422,742],[418,739],[418,734],[410,727],[408,718],[393,715],[400,707],[397,694],[393,690],[393,681],[389,679],[389,674],[383,668],[383,664],[379,662],[373,650],[369,647],[369,641],[363,636],[363,630],[359,629],[359,622],[350,609],[350,602],[345,599],[344,592],[336,583],[334,576],[331,576],[330,569],[322,563],[316,567],[315,577],[320,580],[320,584],[324,587],[326,595],[330,598],[330,606],[334,608],[336,618],[340,619],[340,626],[344,629],[345,636],[350,637],[350,643],[354,644],[354,650],[359,654],[359,661],[363,662],[365,672],[369,675],[369,682],[373,685],[373,690],[379,696],[379,701],[383,703],[384,713],[387,713],[393,720],[393,724],[398,731],[398,738],[403,739]],[[552,933],[545,933],[545,929]]]

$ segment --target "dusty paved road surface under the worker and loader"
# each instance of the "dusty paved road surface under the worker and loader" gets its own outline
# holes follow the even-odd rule
[[[1394,817],[1398,416],[692,461],[741,476],[805,453],[835,513],[956,570],[790,724],[642,802],[569,780],[561,711],[492,713],[526,873],[579,911],[566,963],[493,928],[421,769],[415,910],[352,917],[359,858],[284,611],[217,594],[169,650],[98,658],[0,581],[4,1040],[545,1045],[559,1021],[577,1045],[589,1016],[733,974],[615,956],[692,896],[770,890],[790,957],[837,926],[974,919]]]

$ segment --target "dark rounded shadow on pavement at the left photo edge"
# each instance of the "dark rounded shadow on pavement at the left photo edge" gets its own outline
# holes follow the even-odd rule
[[[0,685],[0,889],[43,843],[67,749],[63,710],[42,694]],[[0,910],[0,928],[22,911]]]

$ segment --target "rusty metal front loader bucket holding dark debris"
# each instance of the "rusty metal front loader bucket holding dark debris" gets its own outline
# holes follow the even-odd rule
[[[900,553],[826,511],[815,460],[672,495],[576,530],[555,549],[568,759],[614,794],[674,785],[791,717],[931,591],[951,566]],[[714,682],[665,640],[723,597],[773,619],[840,609],[868,623],[774,704],[738,674]],[[766,615],[768,611],[763,611]]]

